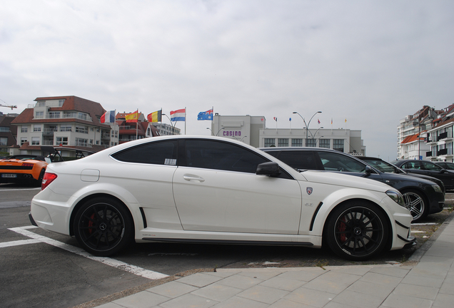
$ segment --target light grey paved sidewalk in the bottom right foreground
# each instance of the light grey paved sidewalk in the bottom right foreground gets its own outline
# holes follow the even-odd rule
[[[448,220],[413,254],[412,266],[218,269],[99,308],[454,307],[454,222]]]

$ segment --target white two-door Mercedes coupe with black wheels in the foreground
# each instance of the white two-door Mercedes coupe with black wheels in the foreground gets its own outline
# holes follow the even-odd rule
[[[93,255],[129,242],[327,245],[349,260],[414,245],[402,195],[350,175],[298,172],[236,140],[133,140],[49,164],[30,220]]]

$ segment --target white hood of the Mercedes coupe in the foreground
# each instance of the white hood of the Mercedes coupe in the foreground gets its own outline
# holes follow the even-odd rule
[[[332,173],[320,170],[305,170],[301,171],[306,180],[309,182],[324,183],[331,185],[344,186],[349,188],[360,188],[365,190],[374,190],[379,192],[385,192],[386,190],[395,190],[390,185],[378,182],[376,180],[370,180],[368,178],[361,178],[354,175],[348,175],[345,173]]]

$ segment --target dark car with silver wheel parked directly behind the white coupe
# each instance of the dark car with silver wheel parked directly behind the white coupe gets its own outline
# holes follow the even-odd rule
[[[429,180],[383,173],[352,155],[328,148],[283,147],[261,150],[296,169],[347,173],[388,184],[402,193],[405,207],[413,215],[413,222],[443,210],[445,194],[440,186]]]

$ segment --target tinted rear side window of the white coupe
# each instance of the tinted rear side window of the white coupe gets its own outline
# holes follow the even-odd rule
[[[176,140],[150,142],[114,153],[112,157],[127,163],[176,165],[177,148]]]

